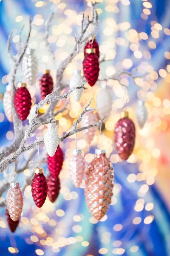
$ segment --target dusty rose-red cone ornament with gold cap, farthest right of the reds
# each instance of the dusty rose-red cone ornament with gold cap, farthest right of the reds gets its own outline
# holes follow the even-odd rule
[[[135,145],[135,125],[128,118],[128,112],[125,112],[125,117],[119,119],[116,123],[114,142],[119,157],[122,160],[127,160],[132,154]]]

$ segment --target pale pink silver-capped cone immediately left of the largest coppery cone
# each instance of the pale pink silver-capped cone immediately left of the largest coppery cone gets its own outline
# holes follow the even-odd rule
[[[69,169],[71,180],[76,188],[78,188],[85,175],[85,159],[82,156],[81,149],[74,149],[73,156],[70,158]]]

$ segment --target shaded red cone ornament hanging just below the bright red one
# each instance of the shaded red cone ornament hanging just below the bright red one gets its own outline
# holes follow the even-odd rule
[[[54,203],[59,195],[60,190],[60,181],[59,177],[54,178],[52,175],[49,175],[47,178],[47,185],[48,185],[48,198],[51,203]]]

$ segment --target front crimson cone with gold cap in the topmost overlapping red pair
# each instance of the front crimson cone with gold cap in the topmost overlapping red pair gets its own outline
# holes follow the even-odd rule
[[[99,60],[95,54],[94,48],[86,49],[86,55],[83,60],[83,72],[85,79],[90,86],[94,86],[99,76]]]

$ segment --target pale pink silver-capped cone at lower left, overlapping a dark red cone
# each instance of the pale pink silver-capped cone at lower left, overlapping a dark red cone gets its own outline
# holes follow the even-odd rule
[[[11,183],[11,188],[6,196],[6,206],[11,219],[17,221],[23,210],[23,194],[19,188],[19,182]]]

